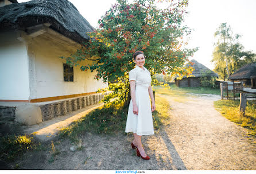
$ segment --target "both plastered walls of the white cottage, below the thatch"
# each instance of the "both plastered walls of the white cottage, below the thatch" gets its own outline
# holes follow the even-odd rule
[[[53,32],[54,33],[54,32]],[[60,34],[29,37],[22,31],[0,34],[0,100],[29,101],[37,98],[96,92],[107,83],[95,80],[96,72],[75,66],[74,81],[64,81],[64,60],[79,44]],[[83,61],[81,65],[91,64]]]

